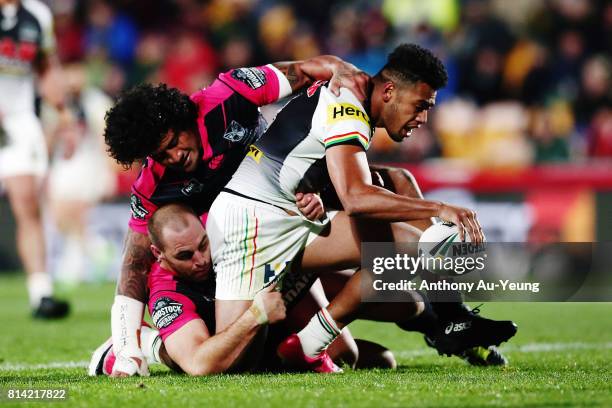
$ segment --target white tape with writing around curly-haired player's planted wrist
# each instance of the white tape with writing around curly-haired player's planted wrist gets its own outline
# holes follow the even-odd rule
[[[111,332],[115,355],[126,350],[128,355],[138,355],[140,344],[138,331],[142,322],[144,304],[127,296],[116,295],[111,308]]]

